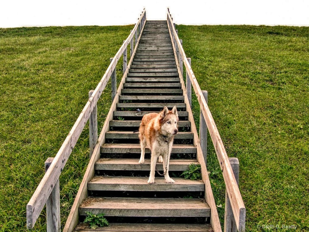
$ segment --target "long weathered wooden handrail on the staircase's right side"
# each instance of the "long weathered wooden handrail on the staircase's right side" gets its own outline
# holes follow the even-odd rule
[[[173,43],[175,44],[175,47],[177,47],[179,51],[179,56],[182,58],[182,61],[184,62],[184,66],[186,68],[186,71],[188,73],[188,76],[191,80],[191,84],[193,86],[194,92],[197,96],[197,100],[200,104],[201,113],[203,114],[205,118],[206,125],[208,127],[211,140],[214,144],[214,148],[218,157],[218,161],[222,170],[222,175],[224,178],[224,183],[226,185],[226,192],[229,196],[230,202],[231,202],[231,208],[235,217],[237,229],[239,231],[244,231],[245,227],[245,217],[246,217],[246,208],[243,203],[242,196],[240,194],[237,182],[235,180],[235,176],[231,167],[231,164],[229,162],[228,156],[226,154],[224,145],[222,143],[219,131],[217,129],[217,126],[214,122],[214,118],[211,115],[211,112],[208,108],[208,105],[206,103],[206,100],[202,94],[202,90],[197,82],[197,79],[192,71],[191,65],[188,62],[188,59],[186,57],[186,54],[184,52],[184,49],[181,45],[180,39],[178,37],[178,34],[175,29],[175,25],[173,23],[173,19],[171,17],[171,14],[167,12],[167,23],[169,24],[169,27],[171,28],[171,33],[173,36]]]

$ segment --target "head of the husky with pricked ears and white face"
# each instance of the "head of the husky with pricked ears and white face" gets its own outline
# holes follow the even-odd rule
[[[172,110],[168,110],[166,106],[160,113],[160,127],[161,133],[165,136],[176,135],[178,133],[178,113],[174,106]]]

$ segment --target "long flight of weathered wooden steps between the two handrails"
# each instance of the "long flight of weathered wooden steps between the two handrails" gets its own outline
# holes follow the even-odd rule
[[[155,184],[147,184],[150,150],[146,148],[145,163],[138,164],[141,149],[138,132],[133,131],[143,115],[165,105],[169,109],[176,105],[180,119],[169,167],[175,183],[167,184],[156,174]],[[212,231],[204,182],[180,177],[189,164],[198,164],[188,107],[167,21],[146,21],[95,163],[95,176],[88,182],[88,197],[79,206],[80,222],[89,211],[104,213],[110,222],[96,231]],[[161,163],[157,167],[163,170]],[[75,230],[92,231],[83,223]]]

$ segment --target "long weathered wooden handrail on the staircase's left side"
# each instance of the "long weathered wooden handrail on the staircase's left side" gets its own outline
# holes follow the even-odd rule
[[[125,49],[129,45],[129,43],[132,41],[132,38],[137,32],[137,29],[139,25],[144,24],[146,10],[142,11],[142,14],[140,15],[138,22],[135,24],[133,30],[129,34],[128,38],[124,41],[124,43],[121,45],[120,49],[117,51],[116,55],[114,56],[112,62],[108,66],[106,72],[104,73],[102,79],[100,80],[99,84],[93,91],[91,97],[89,97],[89,100],[87,101],[86,105],[84,106],[82,112],[79,114],[76,122],[74,123],[72,129],[70,130],[69,134],[67,135],[66,139],[64,140],[63,144],[61,145],[59,151],[57,152],[56,156],[54,157],[51,165],[49,166],[49,169],[46,171],[45,175],[43,176],[42,180],[40,181],[40,184],[36,188],[36,191],[32,195],[30,201],[27,204],[27,228],[32,229],[37,218],[39,217],[44,205],[46,204],[46,201],[50,195],[50,193],[53,190],[53,187],[55,186],[56,182],[59,179],[59,176],[66,165],[66,162],[68,158],[70,157],[70,154],[72,153],[72,150],[74,146],[77,143],[77,140],[79,136],[81,135],[83,128],[86,125],[86,122],[88,121],[91,112],[94,110],[99,97],[101,96],[104,88],[107,85],[107,82],[109,78],[112,75],[112,72],[115,70],[116,64],[122,54],[124,53]]]

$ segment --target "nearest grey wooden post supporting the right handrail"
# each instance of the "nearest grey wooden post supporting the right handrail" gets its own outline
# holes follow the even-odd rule
[[[237,185],[239,186],[239,161],[237,158],[229,158]],[[225,209],[224,209],[224,232],[237,232],[237,226],[234,219],[234,214],[231,207],[231,202],[227,192],[225,191]],[[244,231],[243,228],[239,228],[239,232]]]

